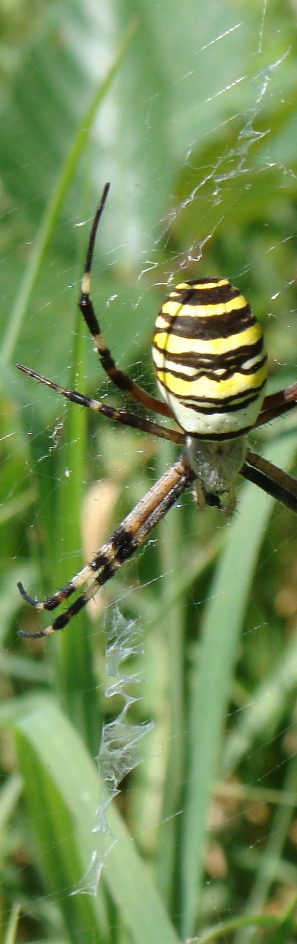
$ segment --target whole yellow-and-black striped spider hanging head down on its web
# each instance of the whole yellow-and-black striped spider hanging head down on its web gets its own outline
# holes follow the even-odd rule
[[[121,370],[107,346],[90,299],[90,272],[95,238],[110,184],[91,228],[79,307],[97,349],[103,370],[117,388],[148,411],[177,421],[179,430],[167,429],[128,410],[117,410],[76,390],[68,390],[17,364],[28,377],[45,383],[72,403],[183,446],[180,458],[149,489],[148,494],[118,525],[109,541],[52,597],[39,601],[28,596],[19,582],[23,599],[36,610],[55,610],[87,582],[86,589],[52,624],[39,632],[23,632],[38,639],[63,630],[87,600],[114,576],[147,540],[152,529],[195,482],[199,508],[215,505],[226,514],[235,507],[234,480],[238,473],[251,480],[291,511],[297,512],[297,482],[286,472],[252,452],[246,445],[251,429],[287,412],[297,400],[297,382],[273,396],[265,396],[267,355],[262,331],[240,291],[226,278],[196,278],[180,282],[167,296],[159,312],[153,337],[153,362],[164,402],[150,396]],[[227,504],[222,505],[222,497]]]

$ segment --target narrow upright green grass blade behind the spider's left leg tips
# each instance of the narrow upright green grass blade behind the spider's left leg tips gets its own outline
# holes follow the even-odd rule
[[[86,202],[86,201],[85,201]],[[81,241],[82,242],[82,241]],[[85,245],[83,253],[85,254]],[[82,252],[79,253],[82,256]],[[80,272],[83,261],[79,260]],[[71,357],[69,386],[84,386],[86,344],[84,322],[76,307],[73,325],[74,344]],[[52,586],[63,586],[83,566],[81,508],[87,477],[87,411],[66,406],[63,421],[63,440],[56,453],[56,478],[59,481],[56,507],[55,560],[52,567]],[[65,474],[67,470],[67,475]],[[49,543],[51,543],[51,532]],[[84,562],[85,563],[85,562]],[[92,755],[98,751],[100,718],[97,684],[86,610],[74,620],[70,633],[55,636],[55,678],[63,710],[66,711],[82,734]]]

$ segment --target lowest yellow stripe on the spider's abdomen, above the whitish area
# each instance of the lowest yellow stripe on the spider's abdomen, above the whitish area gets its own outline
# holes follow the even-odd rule
[[[260,370],[248,377],[242,377],[242,374],[233,374],[227,380],[214,381],[207,377],[201,377],[195,381],[182,380],[172,377],[166,371],[157,371],[157,377],[161,383],[169,389],[170,393],[178,396],[204,396],[206,399],[211,396],[219,397],[224,400],[226,396],[234,396],[252,391],[259,387],[267,378],[267,364],[263,364]]]

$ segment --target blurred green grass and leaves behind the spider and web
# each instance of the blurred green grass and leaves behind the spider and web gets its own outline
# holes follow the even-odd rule
[[[176,449],[68,409],[14,364],[123,403],[77,311],[108,179],[92,297],[120,366],[154,392],[152,326],[181,269],[239,285],[270,390],[296,379],[296,4],[6,0],[0,17],[0,940],[292,941],[296,519],[240,482],[232,521],[188,494],[97,605],[23,641],[40,618],[17,581],[42,597],[69,579]],[[294,473],[294,412],[252,442]],[[154,728],[104,858],[95,757],[127,671],[116,640],[104,699],[116,602],[145,649],[131,740]],[[71,897],[101,859],[98,895]]]

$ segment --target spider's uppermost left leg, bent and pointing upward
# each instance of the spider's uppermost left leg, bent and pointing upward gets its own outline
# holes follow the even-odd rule
[[[162,416],[173,416],[171,410],[166,403],[162,403],[161,400],[158,400],[156,396],[150,396],[143,390],[142,387],[138,386],[138,383],[134,383],[134,380],[130,379],[127,374],[124,374],[122,370],[117,369],[117,364],[112,357],[111,351],[106,344],[106,341],[102,335],[100,325],[96,314],[93,309],[92,302],[90,300],[90,288],[91,288],[91,265],[94,251],[94,244],[96,239],[96,233],[99,225],[99,221],[102,215],[102,210],[107,198],[107,194],[110,188],[109,183],[105,183],[102,199],[94,222],[91,228],[89,242],[86,252],[86,266],[85,273],[82,280],[82,291],[79,301],[79,308],[85,318],[86,326],[92,335],[95,346],[97,348],[100,360],[102,362],[102,368],[105,371],[105,374],[108,374],[108,377],[113,381],[116,387],[119,390],[123,390],[129,396],[132,396],[133,400],[136,400],[137,403],[142,403],[147,410],[152,410],[153,413],[159,413]]]

